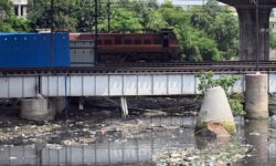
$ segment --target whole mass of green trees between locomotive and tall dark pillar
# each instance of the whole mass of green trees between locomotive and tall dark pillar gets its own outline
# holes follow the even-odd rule
[[[216,1],[185,10],[166,1],[157,11],[176,31],[182,60],[221,61],[237,55],[237,18]]]

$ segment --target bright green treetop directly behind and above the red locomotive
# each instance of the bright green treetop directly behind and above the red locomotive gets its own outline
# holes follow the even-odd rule
[[[109,2],[109,8],[108,8]],[[158,9],[157,0],[104,0],[100,4],[100,30],[107,31],[108,18],[110,20],[110,27],[118,28],[117,30],[126,31],[126,28],[121,27],[125,23],[130,24],[128,31],[140,31],[141,29],[150,29],[153,24],[150,24],[152,17],[158,13],[153,13]],[[109,9],[109,11],[108,11]],[[123,12],[123,13],[120,13]],[[123,17],[125,14],[125,17]],[[127,15],[130,14],[130,15]],[[131,17],[131,18],[130,18]],[[126,20],[121,20],[121,19]],[[159,19],[159,18],[158,18]],[[125,22],[125,23],[124,23]],[[128,22],[128,23],[127,23]],[[116,24],[116,25],[115,25]],[[119,25],[120,24],[120,25]]]

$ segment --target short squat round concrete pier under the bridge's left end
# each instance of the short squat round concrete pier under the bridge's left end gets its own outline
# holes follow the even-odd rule
[[[32,121],[49,121],[55,116],[55,106],[47,98],[21,101],[20,117]]]

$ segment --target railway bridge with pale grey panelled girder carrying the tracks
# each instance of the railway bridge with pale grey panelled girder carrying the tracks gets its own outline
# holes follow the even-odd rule
[[[213,71],[214,77],[241,75],[229,91],[242,93],[245,91],[245,74],[255,73],[255,62],[221,62],[146,63],[54,70],[6,69],[0,70],[0,100],[43,96],[56,101],[73,96],[117,96],[120,97],[124,113],[128,114],[127,96],[199,94],[197,73],[200,71]],[[276,62],[261,62],[259,70],[268,74],[268,92],[276,93]]]

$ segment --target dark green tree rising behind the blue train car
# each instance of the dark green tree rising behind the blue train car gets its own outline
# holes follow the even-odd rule
[[[86,4],[84,4],[86,3]],[[28,19],[32,22],[32,28],[51,28],[53,14],[54,29],[67,29],[75,31],[81,21],[82,12],[86,11],[84,6],[91,6],[89,0],[54,0],[54,8],[51,9],[51,0],[35,0],[32,4]],[[89,9],[91,12],[92,9]],[[91,18],[91,17],[86,17]]]

